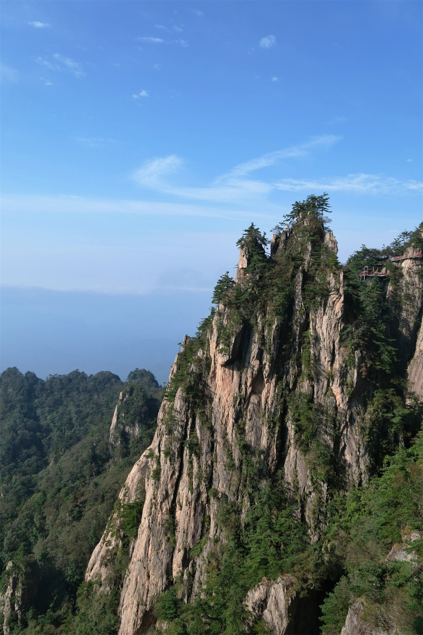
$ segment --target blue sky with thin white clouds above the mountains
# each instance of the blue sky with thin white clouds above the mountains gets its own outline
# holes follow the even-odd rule
[[[242,229],[310,193],[330,194],[341,260],[419,224],[421,25],[417,1],[3,2],[5,363],[72,370],[60,351],[98,330],[96,294],[161,294],[179,341],[174,315],[189,305],[192,331]],[[36,293],[67,334],[54,363]],[[136,330],[133,313],[114,328]],[[34,338],[32,358],[11,345]]]

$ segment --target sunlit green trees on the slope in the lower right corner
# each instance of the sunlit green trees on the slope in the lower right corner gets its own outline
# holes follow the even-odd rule
[[[423,435],[400,448],[380,477],[332,501],[328,547],[343,559],[344,576],[323,603],[323,633],[341,632],[349,605],[365,602],[364,617],[390,632],[422,631],[422,569],[416,562],[387,559],[394,543],[423,556]],[[407,540],[412,535],[420,539]]]

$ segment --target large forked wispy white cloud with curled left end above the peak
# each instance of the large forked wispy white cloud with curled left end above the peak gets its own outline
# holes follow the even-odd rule
[[[187,187],[172,184],[172,177],[181,173],[184,162],[175,154],[167,157],[156,157],[146,161],[132,174],[133,180],[141,187],[154,189],[164,194],[172,194],[192,200],[209,202],[242,203],[257,197],[263,199],[270,192],[286,190],[290,192],[325,190],[342,191],[355,194],[384,194],[388,192],[420,191],[422,184],[417,181],[400,181],[384,175],[355,174],[347,177],[332,177],[322,180],[295,180],[291,178],[269,182],[252,180],[251,172],[274,165],[281,159],[305,157],[318,147],[330,147],[341,140],[334,135],[322,135],[308,142],[269,152],[245,163],[238,164],[228,173],[216,178],[205,187]]]

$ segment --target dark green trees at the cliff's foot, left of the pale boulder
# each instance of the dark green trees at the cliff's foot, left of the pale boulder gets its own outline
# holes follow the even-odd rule
[[[307,576],[304,566],[310,565],[313,556],[309,558],[306,551],[306,527],[296,518],[282,474],[277,475],[273,487],[256,491],[254,501],[242,526],[238,506],[220,500],[218,523],[226,542],[216,545],[209,556],[202,597],[185,605],[178,600],[181,581],[176,580],[159,599],[159,617],[173,620],[175,630],[169,632],[238,635],[244,630],[246,616],[242,601],[263,575],[275,578],[280,572],[290,572]]]

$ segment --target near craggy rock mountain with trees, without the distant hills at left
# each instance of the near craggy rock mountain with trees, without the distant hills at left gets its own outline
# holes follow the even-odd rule
[[[419,632],[423,226],[342,266],[328,206],[295,203],[270,255],[253,224],[240,237],[122,490],[137,535],[111,518],[91,556],[79,632]]]

